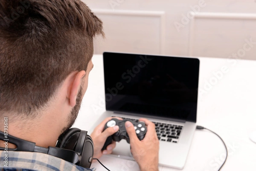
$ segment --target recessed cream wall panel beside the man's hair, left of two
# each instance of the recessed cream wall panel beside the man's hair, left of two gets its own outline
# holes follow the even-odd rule
[[[106,38],[96,39],[95,53],[104,51],[164,54],[164,12],[102,10],[93,12],[103,21]]]

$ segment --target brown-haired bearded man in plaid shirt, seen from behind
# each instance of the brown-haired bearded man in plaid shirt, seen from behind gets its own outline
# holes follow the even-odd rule
[[[9,135],[45,148],[55,146],[79,112],[93,68],[96,34],[104,35],[102,22],[80,0],[0,0],[1,131],[7,123]],[[103,131],[109,119],[91,134],[93,157],[111,154],[115,148],[113,142],[101,151],[107,137],[119,129]],[[148,127],[142,141],[131,122],[125,125],[131,152],[140,170],[157,171],[159,142],[154,124],[141,121]],[[0,146],[5,147],[3,141]],[[15,145],[9,143],[8,148]],[[9,170],[87,170],[47,154],[19,151],[8,151],[13,160],[4,165],[5,153],[0,153],[0,167]]]

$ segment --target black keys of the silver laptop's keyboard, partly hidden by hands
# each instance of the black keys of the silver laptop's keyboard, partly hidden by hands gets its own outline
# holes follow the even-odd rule
[[[123,118],[123,117],[121,118],[130,119],[132,121],[139,122],[138,119]],[[157,137],[160,141],[173,142],[173,143],[177,143],[179,141],[179,136],[183,128],[182,125],[165,124],[160,122],[153,122],[153,123],[155,124]]]

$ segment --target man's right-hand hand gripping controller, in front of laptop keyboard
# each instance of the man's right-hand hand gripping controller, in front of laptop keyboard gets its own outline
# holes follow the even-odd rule
[[[147,126],[143,140],[138,139],[131,122],[125,122],[125,128],[130,138],[131,153],[140,166],[140,171],[158,171],[159,140],[154,123],[148,119],[140,119]]]

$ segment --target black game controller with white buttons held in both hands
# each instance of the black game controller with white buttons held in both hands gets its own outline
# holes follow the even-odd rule
[[[125,129],[125,122],[130,121],[134,125],[135,132],[137,134],[137,137],[142,140],[147,132],[147,127],[144,122],[134,122],[130,119],[123,119],[119,120],[116,118],[113,118],[109,120],[104,127],[104,130],[113,127],[115,125],[119,126],[119,130],[114,133],[112,136],[109,136],[102,148],[102,151],[107,148],[108,145],[111,144],[112,141],[120,141],[121,139],[126,139],[126,141],[130,144],[130,138],[128,136],[128,133],[126,132]]]

